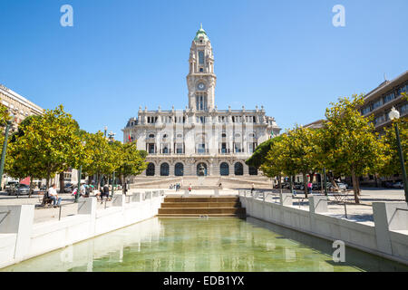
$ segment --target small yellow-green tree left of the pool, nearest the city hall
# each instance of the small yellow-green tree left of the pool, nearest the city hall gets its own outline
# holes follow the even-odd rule
[[[121,166],[116,172],[121,178],[122,185],[129,176],[139,175],[147,168],[146,156],[145,150],[137,150],[136,141],[121,144]]]

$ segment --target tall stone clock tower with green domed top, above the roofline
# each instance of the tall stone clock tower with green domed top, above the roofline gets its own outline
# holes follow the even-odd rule
[[[196,111],[214,109],[214,91],[217,77],[214,74],[214,55],[211,43],[202,25],[189,49],[189,108]]]

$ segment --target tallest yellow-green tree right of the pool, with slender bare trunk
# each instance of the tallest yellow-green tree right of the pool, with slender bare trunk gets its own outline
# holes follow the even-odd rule
[[[374,133],[373,117],[365,118],[357,108],[364,104],[363,95],[340,98],[325,111],[321,136],[327,169],[353,179],[355,203],[359,203],[357,177],[373,172],[384,160],[383,146]]]

